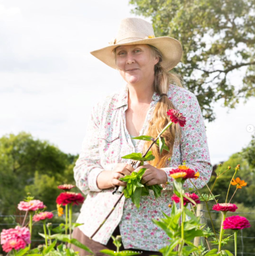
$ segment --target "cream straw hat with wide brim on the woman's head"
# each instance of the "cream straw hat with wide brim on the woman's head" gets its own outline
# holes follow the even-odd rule
[[[116,38],[107,47],[92,51],[91,54],[111,68],[115,64],[114,48],[119,45],[150,44],[156,47],[163,56],[162,66],[166,70],[174,68],[182,58],[182,45],[178,40],[169,36],[155,37],[151,23],[140,18],[121,20]]]

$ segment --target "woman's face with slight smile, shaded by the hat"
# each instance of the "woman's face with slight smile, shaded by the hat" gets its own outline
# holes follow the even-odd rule
[[[147,44],[121,45],[116,48],[116,65],[128,84],[150,81],[154,78],[154,66],[159,61],[153,57]]]

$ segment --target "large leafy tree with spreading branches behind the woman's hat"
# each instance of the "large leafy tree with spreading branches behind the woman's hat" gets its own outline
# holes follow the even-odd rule
[[[130,0],[133,13],[150,17],[155,36],[171,36],[183,45],[176,73],[192,91],[205,119],[215,119],[211,103],[224,99],[234,108],[255,95],[254,0]],[[236,87],[229,77],[243,71]]]

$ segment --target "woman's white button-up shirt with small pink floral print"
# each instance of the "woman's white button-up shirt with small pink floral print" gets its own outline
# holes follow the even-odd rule
[[[154,198],[152,190],[149,196],[141,197],[139,210],[130,198],[123,196],[108,220],[93,237],[94,241],[106,245],[119,225],[125,249],[159,251],[169,244],[169,237],[152,219],[163,218],[162,211],[171,214],[171,208],[168,207],[173,195],[170,170],[176,169],[186,161],[187,166],[200,173],[200,177],[194,180],[198,189],[210,179],[212,165],[198,100],[192,92],[171,84],[167,94],[176,109],[186,117],[186,125],[181,127],[182,139],[179,143],[175,142],[171,159],[167,161],[166,167],[162,168],[168,176],[169,184],[161,185],[163,190],[157,199]],[[159,95],[154,93],[139,135],[146,135],[147,125],[159,99]],[[87,195],[77,222],[84,223],[79,229],[88,237],[100,226],[119,197],[117,193],[112,194],[114,188],[99,189],[96,183],[97,175],[103,170],[113,170],[117,163],[130,164],[131,160],[122,159],[121,156],[139,153],[143,149],[144,141],[137,140],[134,146],[127,131],[127,108],[127,85],[94,106],[81,153],[73,170],[77,187]],[[189,181],[186,181],[184,186],[186,189],[193,188]]]

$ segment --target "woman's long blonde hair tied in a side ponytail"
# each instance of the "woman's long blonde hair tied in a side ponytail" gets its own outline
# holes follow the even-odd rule
[[[169,73],[166,69],[162,67],[162,53],[156,47],[152,45],[149,46],[151,48],[152,56],[159,57],[159,62],[154,66],[154,91],[157,92],[159,95],[161,93],[167,93],[169,90],[169,84],[175,84],[176,86],[183,87],[182,82],[177,74]],[[113,50],[113,54],[116,57],[116,49]],[[170,122],[170,118],[167,115],[167,111],[169,109],[176,108],[172,101],[168,99],[168,97],[162,96],[157,102],[157,105],[155,106],[151,121],[149,123],[149,129],[147,130],[146,135],[149,135],[154,139],[157,138],[158,134]],[[169,152],[163,150],[160,154],[159,147],[154,144],[150,150],[152,151],[153,156],[155,156],[155,159],[153,161],[148,161],[148,163],[159,169],[165,167],[168,158],[172,156],[175,138],[177,137],[180,140],[180,136],[181,132],[179,124],[172,124],[169,129],[161,135],[161,137],[164,138],[167,147],[169,148]],[[145,141],[143,154],[146,153],[151,143],[151,141]]]

